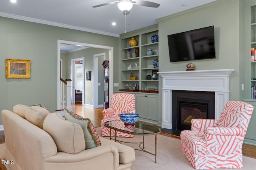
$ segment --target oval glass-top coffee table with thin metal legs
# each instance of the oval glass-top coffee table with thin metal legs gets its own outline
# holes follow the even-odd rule
[[[112,129],[115,131],[114,140],[118,141],[119,143],[120,142],[132,143],[132,142],[125,142],[125,141],[116,140],[116,131],[132,134],[132,135],[141,135],[143,137],[142,142],[138,142],[140,149],[136,149],[136,150],[140,150],[140,151],[147,152],[149,154],[154,155],[155,156],[155,163],[156,163],[156,145],[157,145],[156,135],[161,133],[161,128],[160,127],[148,125],[148,124],[140,122],[140,121],[137,121],[135,123],[135,125],[124,125],[124,122],[122,122],[120,119],[106,121],[104,123],[104,125],[106,127],[110,128],[110,132],[112,131]],[[148,152],[147,150],[144,149],[144,136],[147,136],[147,135],[155,135],[155,153]],[[112,136],[111,136],[111,133],[110,133],[110,140],[111,139],[112,139]],[[141,145],[142,145],[142,147],[141,147]]]

